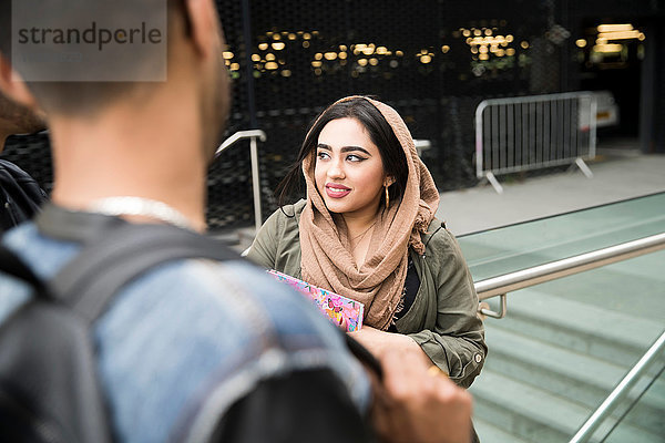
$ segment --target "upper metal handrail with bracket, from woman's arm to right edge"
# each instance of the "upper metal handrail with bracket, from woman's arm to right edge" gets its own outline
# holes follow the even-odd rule
[[[628,258],[655,253],[661,249],[665,249],[665,233],[564,258],[533,268],[505,274],[499,277],[488,278],[474,284],[475,291],[478,292],[478,298],[480,300],[497,296],[505,296],[510,291],[540,285],[545,281],[583,272],[585,270],[600,268],[601,266],[627,260]],[[505,308],[503,301],[504,300],[502,300],[502,305],[503,308]],[[489,309],[480,309],[480,312],[494,318],[502,318],[505,316],[505,309],[502,309],[501,313]]]

